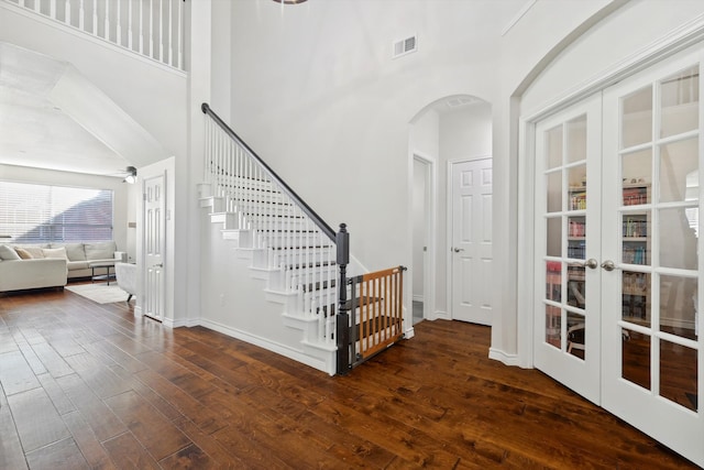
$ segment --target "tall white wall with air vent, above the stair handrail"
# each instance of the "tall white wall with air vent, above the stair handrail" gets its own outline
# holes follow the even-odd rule
[[[274,2],[233,4],[235,132],[328,223],[348,223],[371,270],[411,258],[411,118],[440,97],[493,87],[497,44],[464,47],[488,28],[468,26],[470,3],[342,0],[283,14]],[[452,37],[460,32],[469,37]],[[393,59],[393,41],[413,33],[418,52]]]

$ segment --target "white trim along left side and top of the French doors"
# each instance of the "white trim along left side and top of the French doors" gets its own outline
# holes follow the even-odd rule
[[[582,84],[546,102],[540,109],[532,110],[518,119],[518,227],[526,230],[518,237],[518,289],[517,289],[517,351],[518,364],[522,368],[532,368],[534,331],[532,331],[532,305],[534,296],[530,292],[534,275],[535,237],[532,220],[534,208],[534,181],[536,159],[536,123],[547,117],[565,109],[594,92],[601,92],[626,77],[629,77],[649,65],[674,55],[688,47],[704,41],[704,14],[695,17],[692,21],[674,29],[660,40],[649,44],[645,48],[631,54],[612,67],[590,77]],[[529,222],[530,221],[530,222]],[[530,229],[530,230],[529,230]]]

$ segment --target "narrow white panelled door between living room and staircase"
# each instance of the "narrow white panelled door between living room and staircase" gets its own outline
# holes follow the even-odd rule
[[[165,295],[165,209],[164,176],[144,181],[144,315],[164,319]]]

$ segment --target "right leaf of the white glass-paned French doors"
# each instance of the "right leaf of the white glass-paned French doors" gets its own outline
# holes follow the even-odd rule
[[[602,369],[605,408],[704,467],[701,61],[604,92]]]

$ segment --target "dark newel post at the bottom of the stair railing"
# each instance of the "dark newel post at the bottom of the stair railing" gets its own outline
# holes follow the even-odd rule
[[[345,375],[350,370],[350,317],[348,314],[348,264],[350,263],[350,233],[346,225],[340,223],[340,231],[336,236],[338,247],[337,262],[340,266],[340,282],[338,284],[338,317],[337,317],[337,346],[338,346],[338,374]]]

